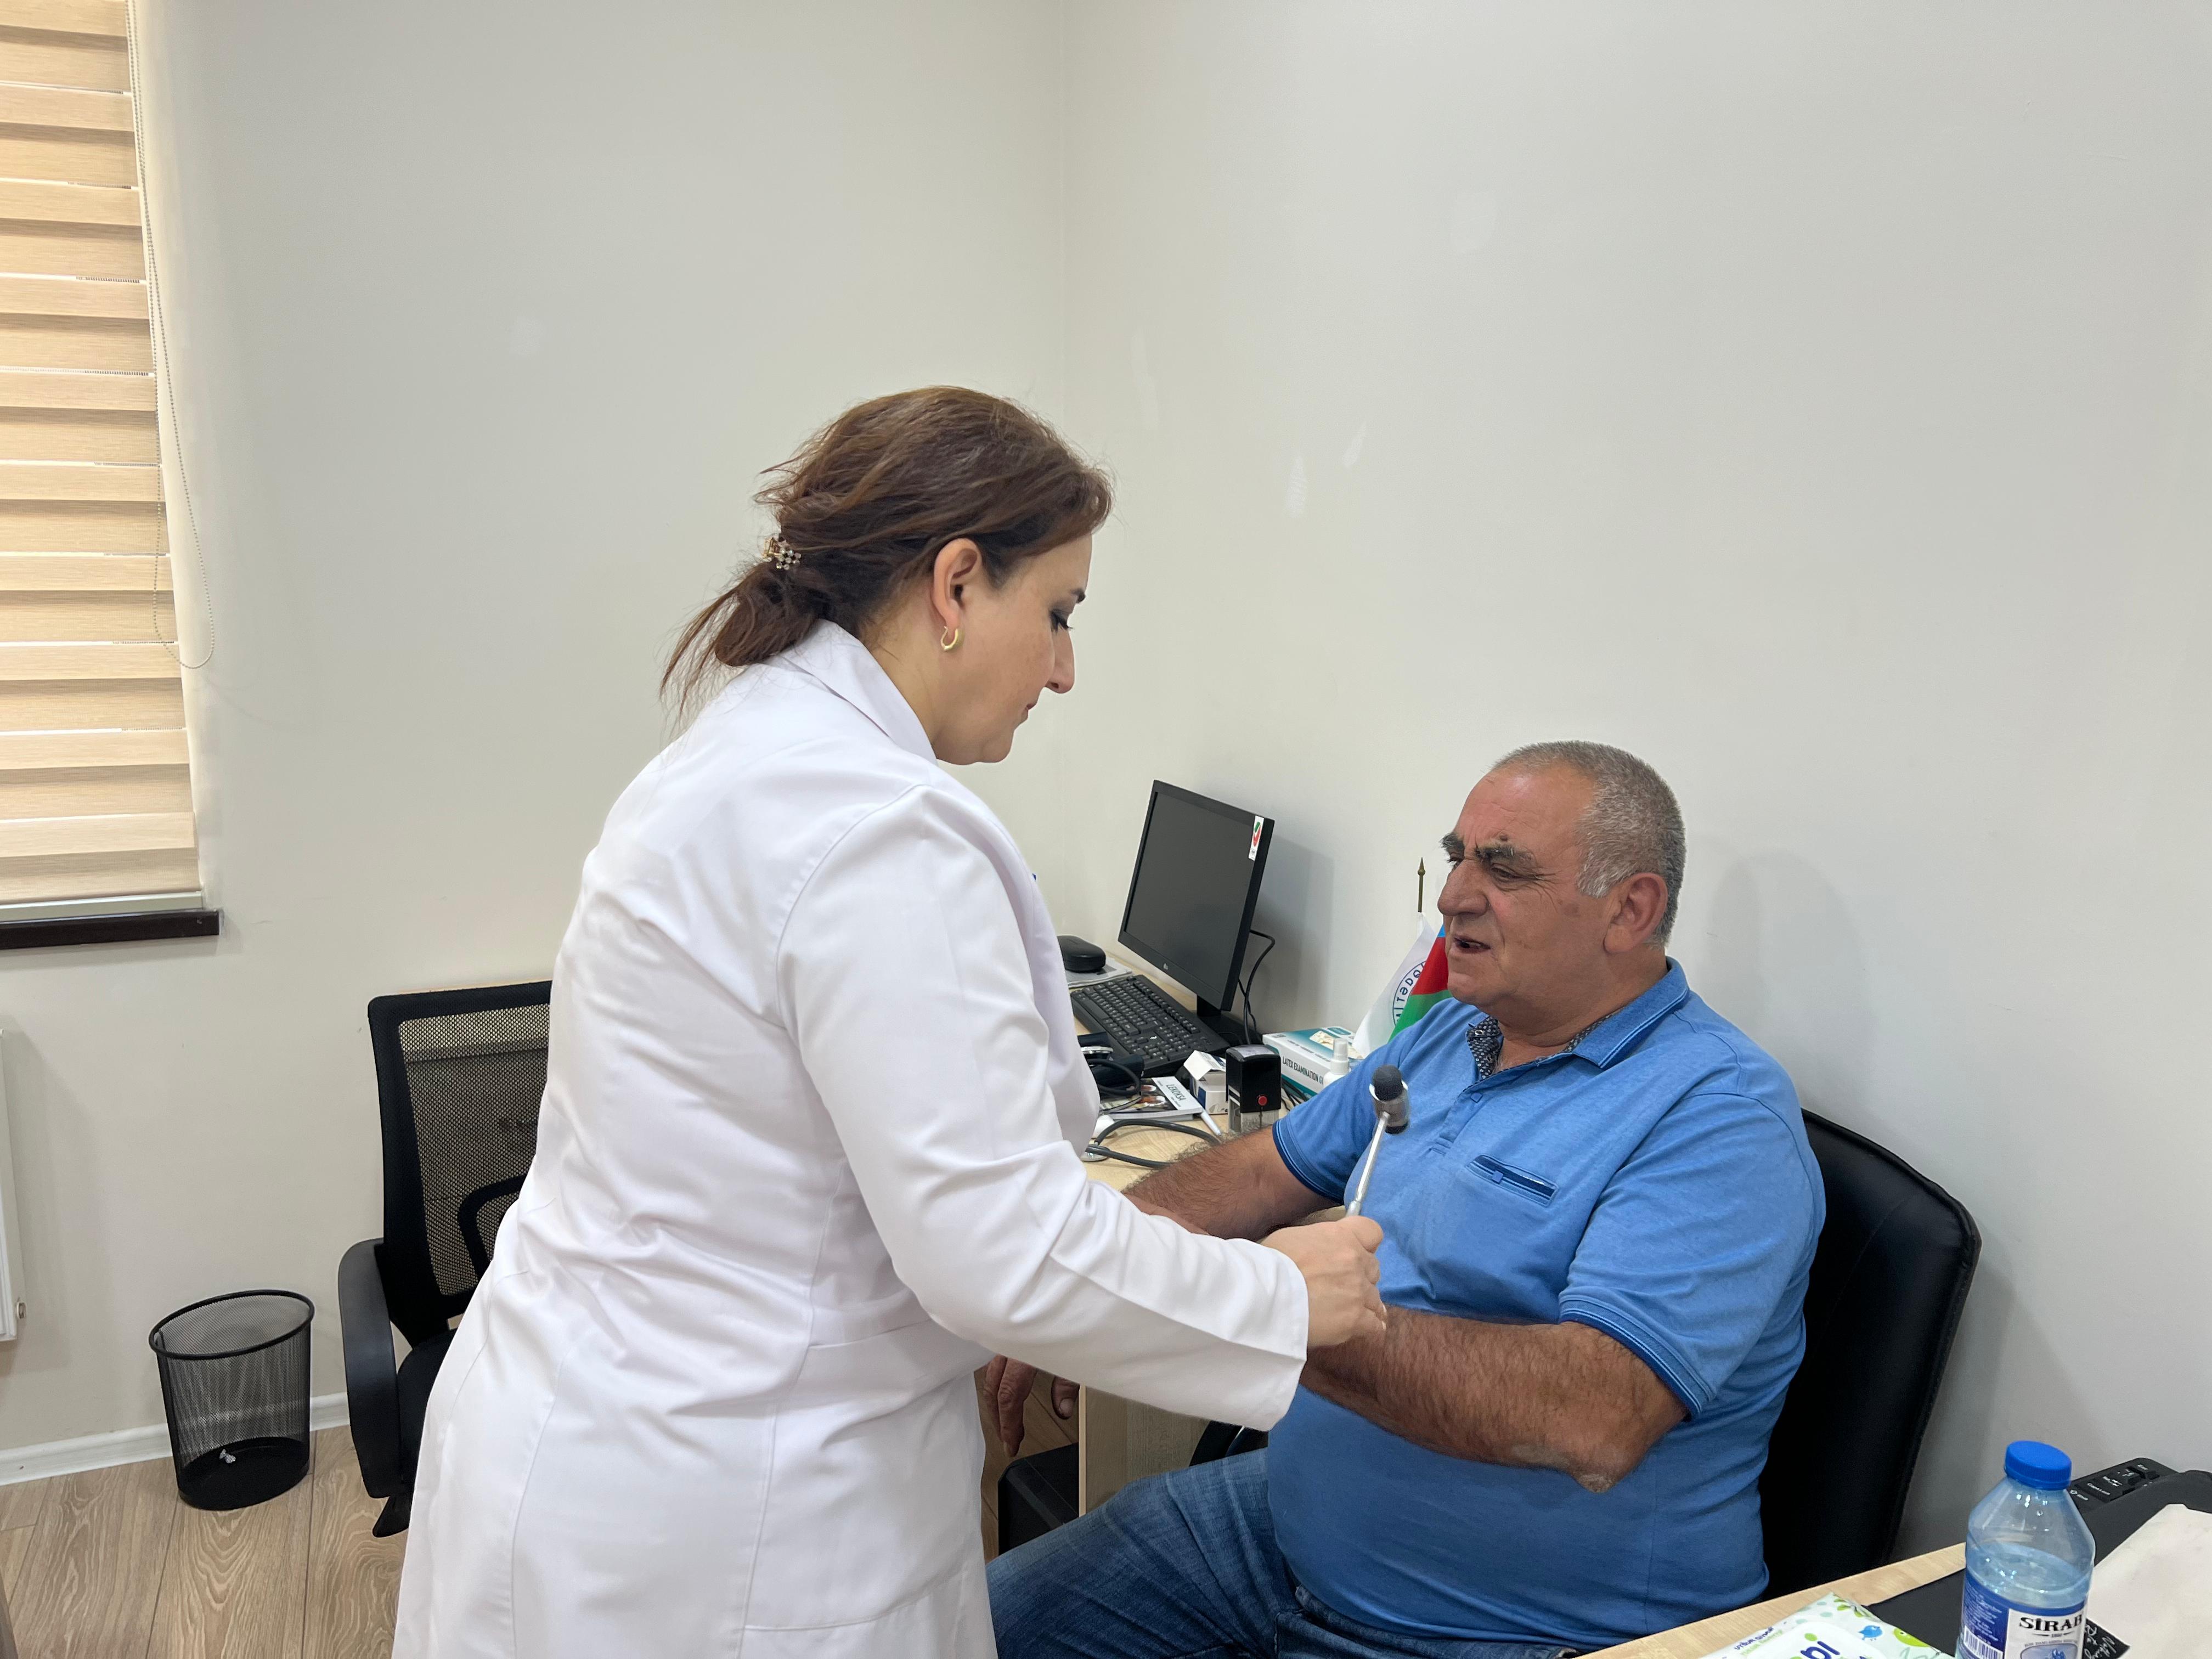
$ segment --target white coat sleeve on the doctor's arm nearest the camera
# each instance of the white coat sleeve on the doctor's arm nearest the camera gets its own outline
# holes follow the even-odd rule
[[[1305,1363],[1298,1270],[1084,1177],[1013,898],[962,814],[909,790],[863,818],[779,947],[785,1020],[891,1265],[931,1318],[1000,1354],[1272,1425]]]

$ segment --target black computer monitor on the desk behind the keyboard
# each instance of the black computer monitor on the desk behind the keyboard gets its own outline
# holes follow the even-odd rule
[[[1121,945],[1190,987],[1201,1020],[1237,1002],[1272,841],[1274,818],[1152,783]]]

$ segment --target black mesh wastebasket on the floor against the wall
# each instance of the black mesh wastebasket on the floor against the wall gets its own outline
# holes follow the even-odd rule
[[[246,1509],[307,1473],[307,1327],[314,1303],[239,1290],[179,1307],[153,1327],[177,1495]]]

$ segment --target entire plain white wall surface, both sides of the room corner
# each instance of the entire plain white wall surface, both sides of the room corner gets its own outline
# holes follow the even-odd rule
[[[237,1285],[338,1387],[363,1002],[546,969],[752,476],[960,378],[1121,478],[971,774],[1066,927],[1181,781],[1281,818],[1261,1013],[1354,1015],[1482,765],[1626,743],[1692,980],[1982,1221],[1913,1540],[2015,1433],[2212,1462],[2201,9],[148,15],[228,929],[0,962],[0,1444]]]

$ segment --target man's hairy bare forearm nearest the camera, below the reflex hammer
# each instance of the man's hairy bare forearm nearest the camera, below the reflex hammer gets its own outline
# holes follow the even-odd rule
[[[1626,1478],[1681,1420],[1635,1354],[1588,1325],[1486,1325],[1389,1310],[1383,1336],[1316,1349],[1305,1387],[1447,1458]]]

